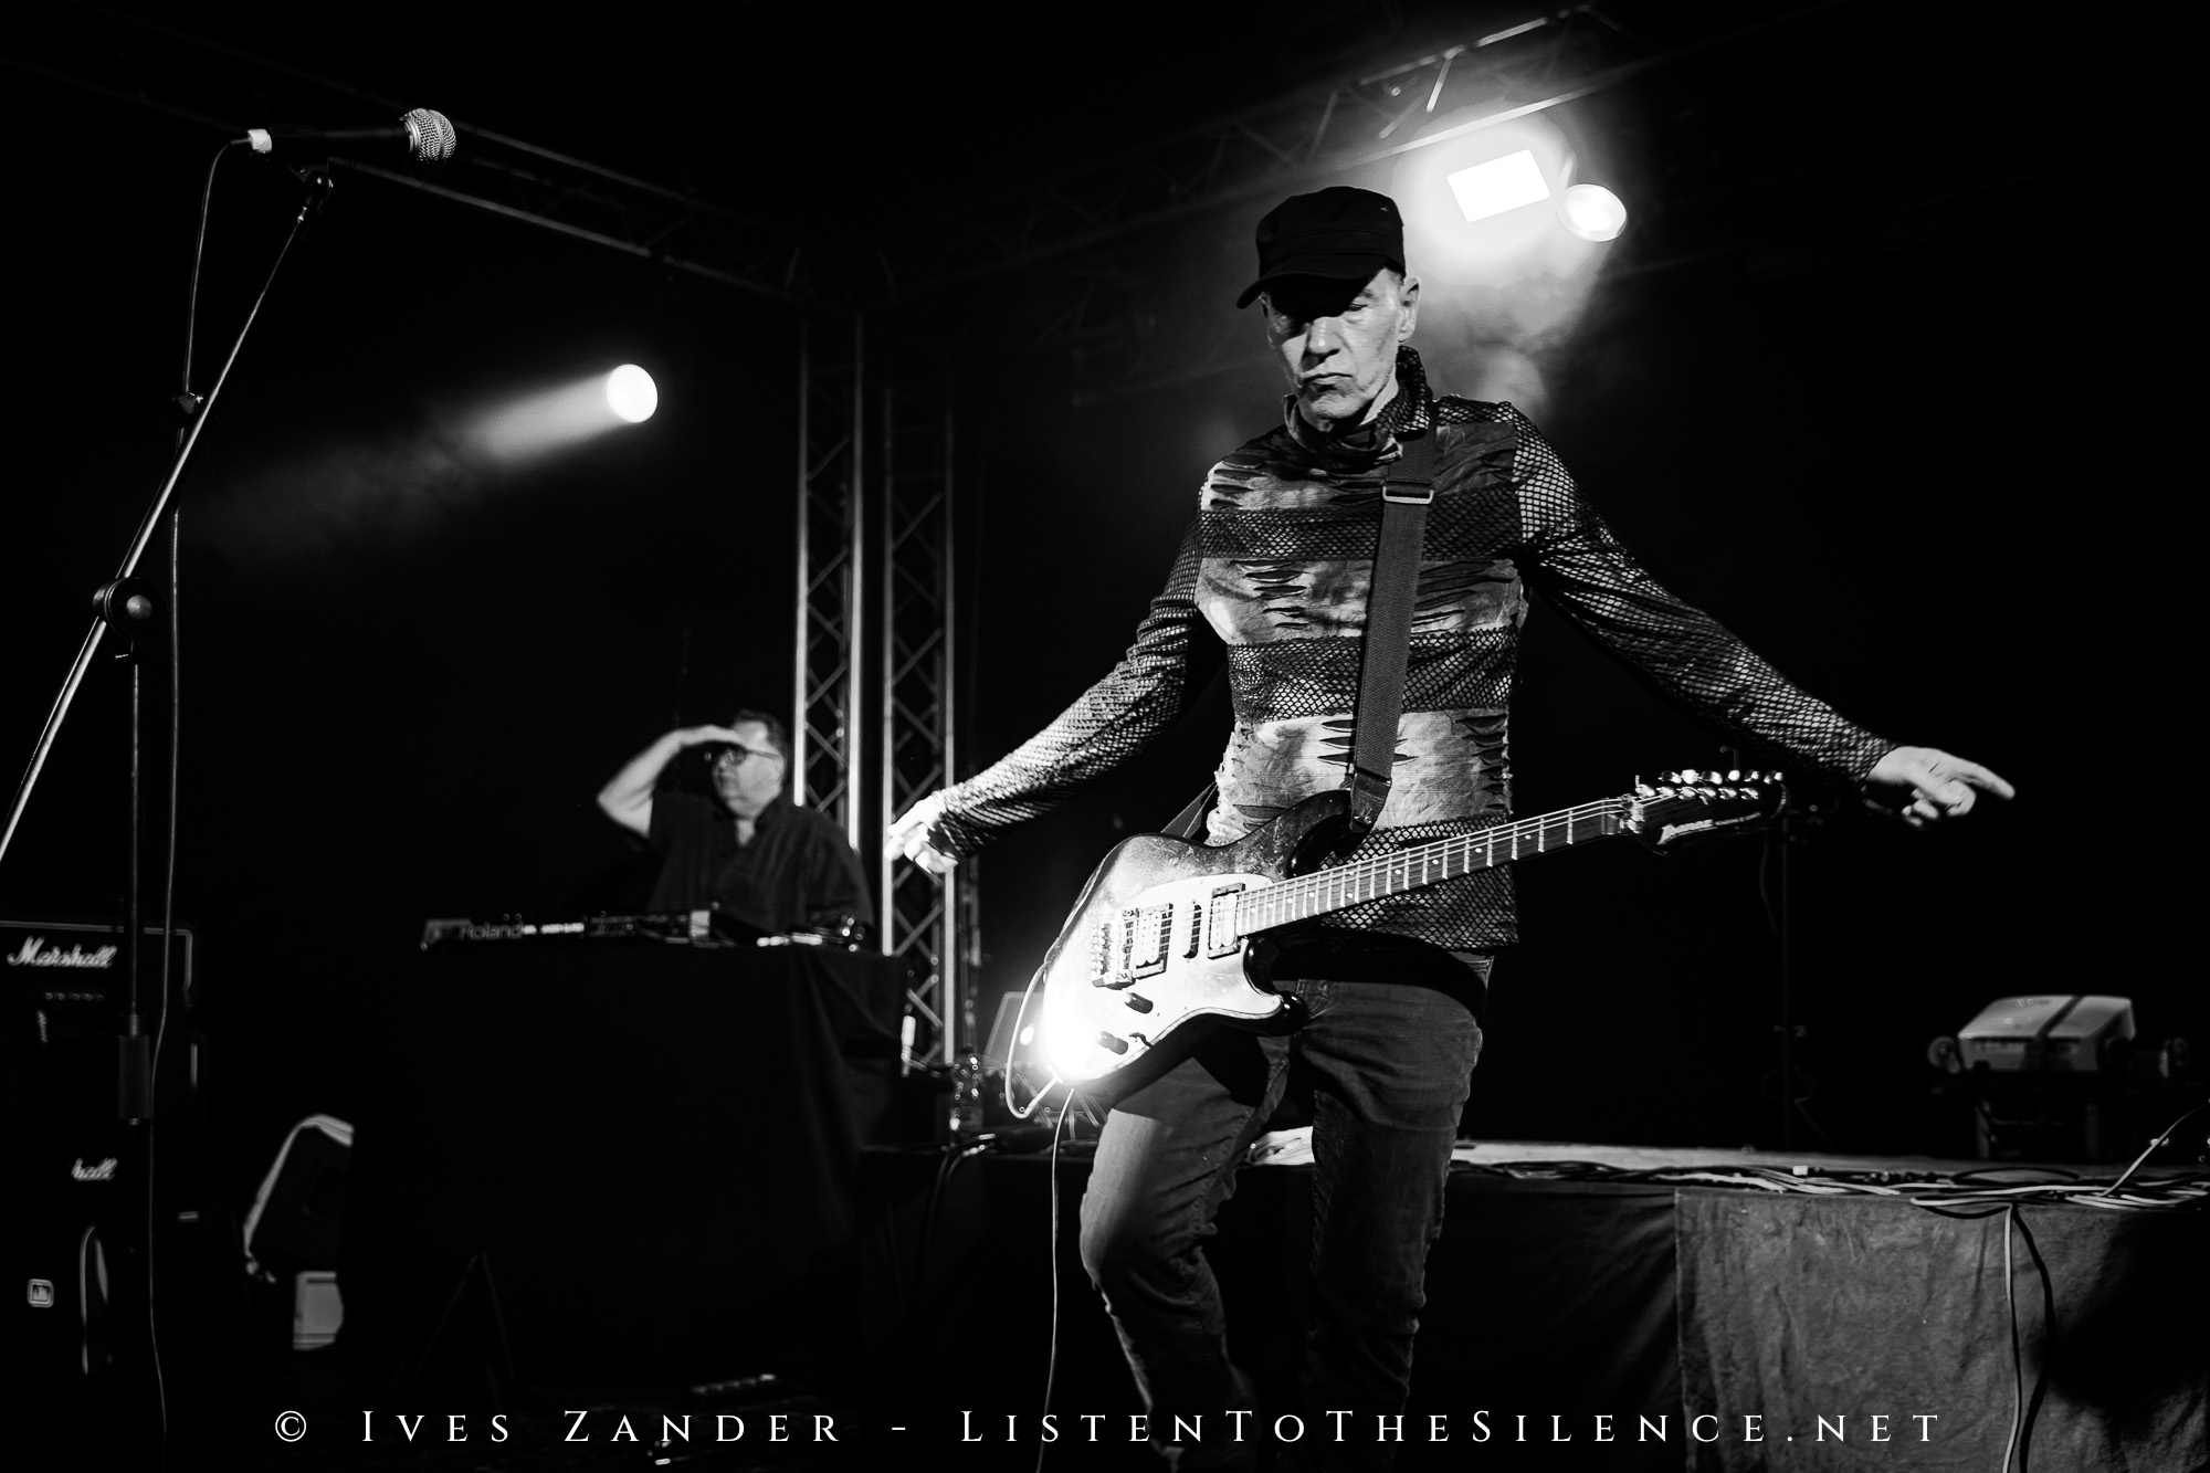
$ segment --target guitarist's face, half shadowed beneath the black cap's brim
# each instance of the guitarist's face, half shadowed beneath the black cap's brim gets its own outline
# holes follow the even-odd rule
[[[1397,345],[1419,318],[1419,281],[1386,268],[1364,283],[1302,276],[1266,288],[1260,303],[1297,409],[1319,429],[1348,429],[1397,378]]]

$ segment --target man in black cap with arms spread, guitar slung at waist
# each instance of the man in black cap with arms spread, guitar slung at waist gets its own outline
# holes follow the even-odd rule
[[[1529,586],[1797,779],[1856,783],[1912,825],[1958,818],[1982,792],[2011,796],[1978,763],[1898,748],[1797,690],[1642,571],[1518,409],[1434,394],[1408,347],[1419,281],[1395,201],[1355,188],[1286,199],[1257,226],[1257,265],[1238,305],[1260,303],[1288,378],[1282,422],[1211,469],[1167,588],[1112,675],[1010,756],[906,812],[893,852],[941,874],[1127,761],[1191,697],[1200,628],[1227,644],[1235,703],[1207,843],[1339,787],[1381,476],[1421,436],[1439,456],[1397,761],[1357,856],[1507,816],[1505,721]],[[1251,1402],[1202,1241],[1293,1059],[1313,1084],[1315,1323],[1308,1435],[1288,1458],[1386,1466],[1372,1418],[1399,1413],[1410,1385],[1428,1245],[1481,1053],[1478,1004],[1492,953],[1516,940],[1512,871],[1388,896],[1322,927],[1273,969],[1304,1004],[1299,1033],[1213,1033],[1123,1097],[1098,1137],[1083,1263],[1176,1469],[1249,1466],[1255,1453],[1227,1418]],[[1165,1442],[1178,1415],[1202,1418],[1187,1444]],[[1260,1422],[1242,1424],[1260,1435]],[[1357,1431],[1337,1442],[1335,1427]]]

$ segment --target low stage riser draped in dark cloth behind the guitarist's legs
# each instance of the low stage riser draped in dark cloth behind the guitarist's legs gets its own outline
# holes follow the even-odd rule
[[[1295,1155],[1238,1174],[1207,1245],[1269,1424],[1299,1407],[1311,1312]],[[2144,1170],[2130,1201],[2104,1197],[2122,1170],[1463,1143],[1428,1261],[1406,1420],[1421,1435],[1399,1466],[1998,1466],[2013,1422],[2035,1466],[2210,1466],[2210,1351],[2155,1334],[2210,1312],[2201,1172]],[[899,1440],[1006,1469],[1036,1451],[1052,1360],[1054,1413],[1140,1411],[1074,1252],[1087,1174],[1087,1150],[866,1152],[851,1402]],[[970,1424],[994,1429],[986,1446],[964,1446]],[[1887,1446],[1898,1429],[1923,1442]],[[1136,1466],[1087,1442],[1052,1460]]]

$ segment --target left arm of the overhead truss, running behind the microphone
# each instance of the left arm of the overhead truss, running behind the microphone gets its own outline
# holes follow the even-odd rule
[[[312,117],[373,126],[433,97],[396,100],[97,7],[9,18],[0,64],[241,137]],[[453,159],[420,173],[332,159],[407,190],[590,241],[665,270],[802,305],[835,294],[849,268],[807,232],[670,190],[586,159],[453,119]]]

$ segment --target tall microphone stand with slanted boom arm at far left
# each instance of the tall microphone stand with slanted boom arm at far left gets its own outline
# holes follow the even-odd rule
[[[168,473],[161,478],[161,489],[155,491],[152,504],[146,506],[146,515],[139,520],[137,533],[124,551],[122,568],[93,599],[93,626],[84,635],[84,646],[77,650],[77,659],[69,668],[62,690],[55,694],[53,710],[46,714],[46,725],[40,730],[38,743],[31,750],[31,763],[15,787],[13,803],[9,805],[7,825],[0,827],[0,863],[7,860],[9,845],[15,838],[15,829],[22,825],[22,814],[29,807],[38,779],[46,767],[46,756],[53,752],[62,723],[69,719],[69,708],[75,703],[77,690],[84,686],[84,677],[91,672],[93,657],[99,652],[108,628],[115,628],[124,639],[130,639],[137,630],[155,624],[157,608],[146,586],[137,579],[137,566],[155,535],[161,531],[161,522],[168,518],[177,482],[183,478],[183,467],[190,462],[192,449],[199,445],[199,431],[208,425],[208,411],[214,409],[214,400],[221,398],[223,385],[230,383],[230,369],[239,363],[239,352],[245,347],[245,336],[261,316],[261,305],[276,285],[276,274],[290,259],[292,248],[298,243],[307,221],[329,199],[332,181],[325,164],[296,168],[294,175],[307,186],[307,195],[301,201],[298,212],[292,217],[292,228],[285,232],[283,245],[270,263],[261,292],[245,312],[245,321],[239,325],[239,334],[230,343],[230,354],[223,358],[223,367],[214,376],[214,385],[208,389],[208,396],[192,405],[190,389],[186,391],[186,409],[192,414],[192,420],[179,436],[177,453],[170,460]],[[122,1400],[122,1440],[133,1453],[144,1453],[150,1466],[159,1466],[161,1440],[168,1429],[159,1349],[152,1327],[155,1035],[148,1024],[159,1022],[159,1011],[168,1009],[168,997],[161,997],[161,1009],[152,1011],[152,1015],[148,1013],[141,989],[144,924],[139,905],[144,829],[144,805],[139,792],[141,681],[137,650],[128,648],[124,650],[124,657],[130,659],[130,882],[124,913],[124,1004],[119,1009],[115,1040],[115,1119],[122,1124],[122,1159],[117,1161],[117,1168],[122,1181],[117,1183],[117,1272],[113,1274],[115,1305],[110,1323],[115,1325],[115,1391]],[[168,936],[164,931],[164,944],[166,942]],[[133,1389],[150,1391],[150,1396],[133,1396]]]

